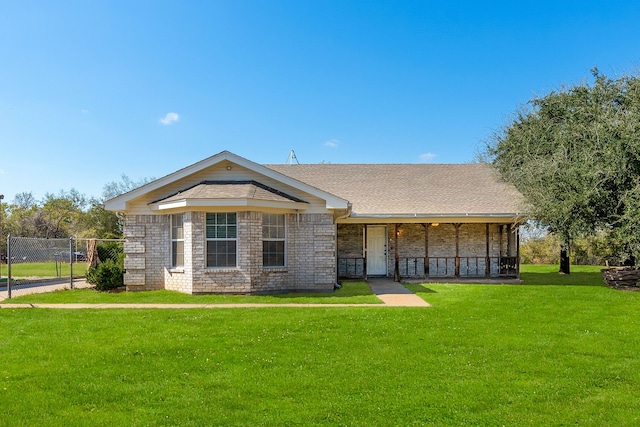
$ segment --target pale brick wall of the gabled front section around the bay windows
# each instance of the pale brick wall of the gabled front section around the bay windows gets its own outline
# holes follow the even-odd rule
[[[262,266],[262,213],[237,213],[237,268],[206,268],[205,213],[184,214],[184,267],[171,268],[170,217],[125,220],[125,284],[129,290],[185,293],[331,291],[336,283],[335,225],[331,214],[287,214],[284,268]]]

